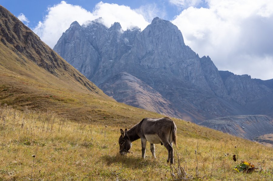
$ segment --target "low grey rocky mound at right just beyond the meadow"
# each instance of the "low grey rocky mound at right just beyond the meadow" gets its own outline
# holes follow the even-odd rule
[[[255,137],[272,133],[273,118],[264,115],[239,115],[206,120],[199,125],[254,140]]]

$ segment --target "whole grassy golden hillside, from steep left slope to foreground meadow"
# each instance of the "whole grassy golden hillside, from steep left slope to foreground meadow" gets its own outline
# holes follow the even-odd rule
[[[160,145],[142,160],[140,140],[120,156],[120,128],[163,116],[108,97],[2,12],[1,37],[12,38],[0,43],[0,180],[181,180],[183,169],[184,180],[272,179],[272,148],[175,118],[173,166]],[[257,169],[237,173],[241,160]]]

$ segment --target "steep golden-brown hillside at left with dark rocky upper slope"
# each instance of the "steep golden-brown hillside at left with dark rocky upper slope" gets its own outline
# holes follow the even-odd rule
[[[25,115],[28,109],[55,112],[64,120],[106,125],[128,126],[143,117],[162,117],[108,97],[2,6],[0,54],[2,107],[15,107]]]

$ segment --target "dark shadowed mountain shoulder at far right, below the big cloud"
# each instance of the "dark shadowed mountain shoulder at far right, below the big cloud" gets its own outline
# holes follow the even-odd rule
[[[229,71],[219,71],[219,74],[228,95],[249,110],[249,114],[273,116],[272,79],[267,81],[251,79],[249,75],[234,75]]]

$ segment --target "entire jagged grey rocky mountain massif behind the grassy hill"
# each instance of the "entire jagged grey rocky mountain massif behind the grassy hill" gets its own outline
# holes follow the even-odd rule
[[[208,56],[200,58],[185,45],[170,21],[154,18],[143,31],[123,31],[117,22],[106,28],[102,21],[73,22],[54,50],[107,95],[193,122],[273,116],[272,82],[218,71]]]

